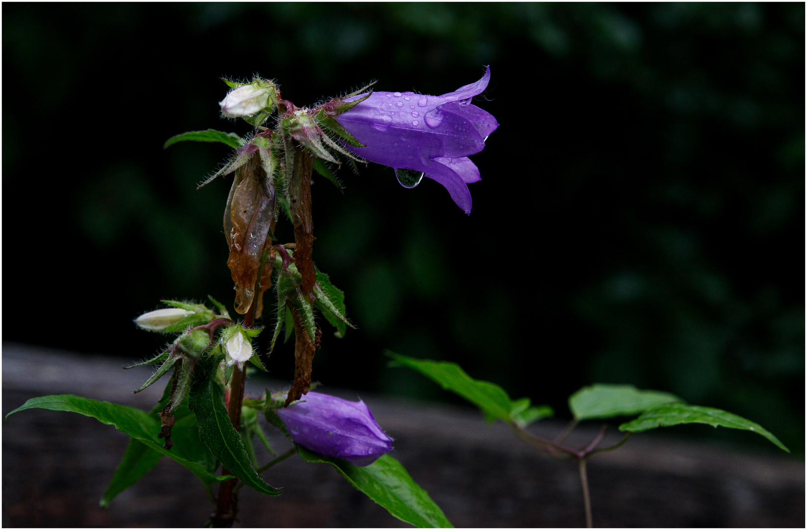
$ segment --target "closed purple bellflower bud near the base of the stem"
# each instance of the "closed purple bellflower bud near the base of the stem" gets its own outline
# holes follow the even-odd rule
[[[370,465],[392,449],[392,438],[378,427],[363,401],[308,392],[302,402],[275,412],[292,440],[326,457]]]

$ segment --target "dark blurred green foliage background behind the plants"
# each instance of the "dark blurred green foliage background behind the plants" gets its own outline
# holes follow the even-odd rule
[[[501,126],[473,157],[470,216],[436,182],[405,190],[389,168],[343,169],[344,195],[315,177],[314,258],[359,329],[338,340],[323,322],[314,378],[453,399],[387,369],[391,348],[457,361],[560,417],[579,386],[629,382],[804,451],[804,4],[5,3],[2,15],[4,340],[145,357],[166,337],[132,319],[161,298],[232,307],[230,177],[194,186],[228,148],[162,149],[182,131],[249,130],[220,119],[220,77],[274,78],[303,106],[375,79],[443,94],[491,65],[477,103]],[[287,224],[276,233],[292,239]],[[291,344],[269,367],[291,379]]]

